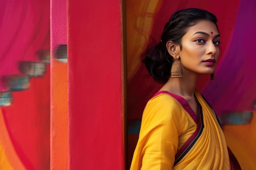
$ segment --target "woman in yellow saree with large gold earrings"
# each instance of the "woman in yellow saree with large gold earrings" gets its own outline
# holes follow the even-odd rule
[[[229,151],[218,119],[195,89],[220,54],[215,15],[177,11],[144,63],[164,86],[149,100],[130,170],[230,170]],[[239,166],[239,165],[238,165]]]

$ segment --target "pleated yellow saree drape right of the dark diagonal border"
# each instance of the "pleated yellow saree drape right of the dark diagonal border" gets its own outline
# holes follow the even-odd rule
[[[187,170],[230,170],[227,144],[216,116],[198,91],[195,91],[195,96],[202,106],[204,130],[193,149],[177,166]],[[195,159],[198,161],[193,161]]]

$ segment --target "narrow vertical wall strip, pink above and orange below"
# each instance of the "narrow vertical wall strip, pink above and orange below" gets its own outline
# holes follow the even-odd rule
[[[67,2],[51,0],[51,56],[67,44]],[[68,169],[67,63],[51,57],[51,170]]]

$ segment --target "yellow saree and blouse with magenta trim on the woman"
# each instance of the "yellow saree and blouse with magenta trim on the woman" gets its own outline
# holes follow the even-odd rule
[[[230,170],[216,115],[198,91],[199,115],[186,100],[160,91],[148,101],[130,170]]]

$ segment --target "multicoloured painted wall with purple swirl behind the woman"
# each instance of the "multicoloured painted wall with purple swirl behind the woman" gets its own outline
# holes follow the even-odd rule
[[[129,0],[127,7],[127,108],[128,126],[128,163],[137,143],[138,135],[134,134],[136,122],[141,119],[146,102],[161,87],[141,63],[141,54],[150,44],[160,41],[164,24],[177,10],[196,7],[214,13],[218,18],[221,35],[222,54],[216,67],[215,82],[210,76],[201,76],[197,88],[210,102],[216,113],[223,118],[227,143],[238,158],[242,169],[253,169],[255,161],[255,126],[253,113],[256,99],[256,59],[253,50],[256,48],[255,26],[256,3],[253,0],[221,1],[214,3],[203,0]],[[236,113],[232,115],[232,113]],[[226,115],[225,115],[226,114]],[[239,125],[234,125],[238,124]],[[237,130],[239,135],[235,135]],[[138,130],[138,129],[137,129]],[[241,134],[240,134],[241,133]],[[246,147],[245,147],[246,146]],[[251,151],[254,152],[251,152]],[[243,157],[245,156],[245,157]],[[250,158],[249,158],[250,157]],[[247,160],[248,158],[248,164]],[[244,168],[243,168],[244,167]]]

